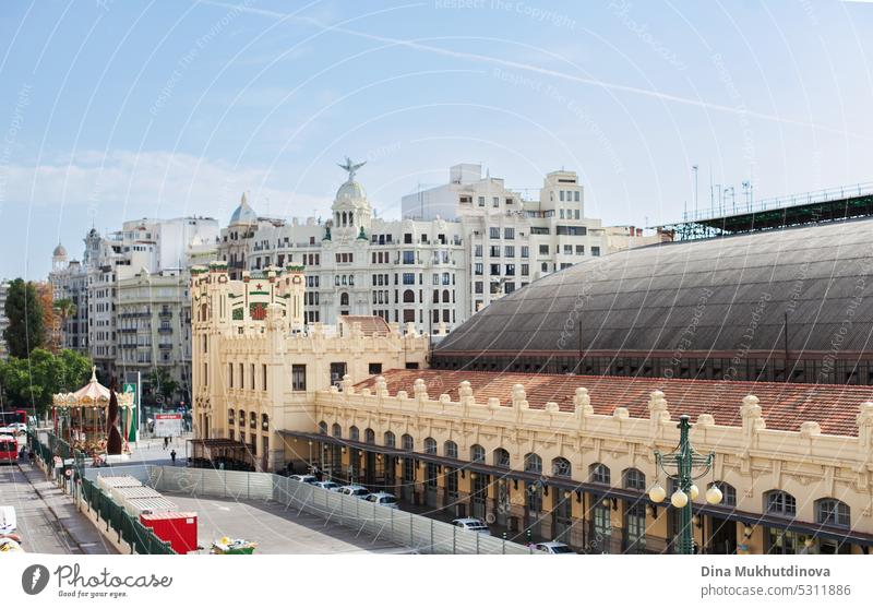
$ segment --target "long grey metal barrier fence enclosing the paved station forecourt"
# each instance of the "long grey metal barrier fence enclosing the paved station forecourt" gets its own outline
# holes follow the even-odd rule
[[[151,467],[150,486],[158,491],[248,500],[273,500],[388,540],[420,553],[527,555],[524,545],[477,534],[422,515],[332,492],[271,473],[206,468]]]

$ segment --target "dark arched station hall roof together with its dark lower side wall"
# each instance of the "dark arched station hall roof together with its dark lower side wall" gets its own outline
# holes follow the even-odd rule
[[[433,367],[863,384],[871,230],[865,218],[591,258],[492,301]]]

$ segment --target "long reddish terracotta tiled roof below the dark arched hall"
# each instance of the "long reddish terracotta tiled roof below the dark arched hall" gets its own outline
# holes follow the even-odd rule
[[[852,437],[858,434],[856,416],[860,404],[873,401],[873,386],[838,384],[403,369],[390,370],[383,375],[392,395],[407,391],[412,396],[414,383],[420,378],[430,398],[436,400],[440,394],[447,393],[452,401],[457,401],[458,384],[466,380],[477,403],[497,397],[504,406],[511,403],[513,385],[523,384],[531,408],[545,408],[551,401],[565,412],[573,410],[573,395],[577,388],[584,386],[595,414],[612,415],[617,407],[626,407],[632,418],[648,418],[649,395],[659,390],[674,418],[687,414],[694,421],[701,414],[710,414],[717,425],[723,426],[740,426],[742,400],[755,395],[768,429],[799,431],[802,422],[815,421],[823,433]],[[356,388],[373,389],[375,381],[372,377]]]

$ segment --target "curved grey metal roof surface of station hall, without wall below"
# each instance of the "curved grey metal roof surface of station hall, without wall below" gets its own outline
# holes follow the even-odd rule
[[[792,356],[839,358],[870,344],[871,270],[873,219],[632,249],[492,302],[435,354],[781,354],[787,319]]]

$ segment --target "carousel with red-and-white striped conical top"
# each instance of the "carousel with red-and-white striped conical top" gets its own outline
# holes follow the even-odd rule
[[[133,421],[133,394],[117,393],[97,382],[96,367],[80,390],[52,397],[52,417],[56,436],[95,461],[123,460],[130,454],[127,438]]]

